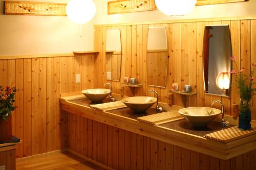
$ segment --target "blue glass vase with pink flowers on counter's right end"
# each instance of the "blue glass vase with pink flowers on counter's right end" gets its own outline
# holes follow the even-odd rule
[[[236,65],[237,57],[231,57],[231,60]],[[236,68],[237,65],[236,65]],[[240,130],[251,130],[251,99],[256,91],[254,82],[254,73],[256,69],[256,63],[251,64],[251,69],[248,74],[245,73],[245,69],[240,70],[232,69],[230,73],[234,75],[236,85],[239,90],[240,104],[239,104],[239,125]]]

